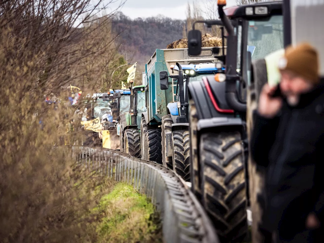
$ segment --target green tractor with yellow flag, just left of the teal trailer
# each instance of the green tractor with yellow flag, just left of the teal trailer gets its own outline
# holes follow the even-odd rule
[[[130,92],[129,110],[120,111],[120,120],[117,124],[120,136],[121,152],[130,154],[135,158],[141,157],[140,132],[142,113],[146,111],[145,86],[133,87]]]

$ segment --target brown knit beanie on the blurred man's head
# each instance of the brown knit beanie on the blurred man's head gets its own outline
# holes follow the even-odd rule
[[[317,51],[307,43],[302,43],[296,47],[287,47],[284,57],[278,63],[280,71],[289,70],[313,84],[319,83],[318,66]]]

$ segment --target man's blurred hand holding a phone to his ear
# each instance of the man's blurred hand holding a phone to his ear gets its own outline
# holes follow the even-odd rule
[[[282,106],[282,98],[272,97],[272,94],[276,91],[277,87],[270,87],[265,84],[262,88],[259,100],[258,112],[265,118],[273,118],[280,110]]]

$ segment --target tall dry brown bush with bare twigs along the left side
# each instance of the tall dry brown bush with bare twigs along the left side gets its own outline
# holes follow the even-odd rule
[[[98,14],[97,3],[0,2],[1,242],[96,240],[90,223],[99,216],[91,208],[100,179],[86,176],[71,148],[57,145],[74,136],[66,133],[65,114],[74,110],[65,105],[62,87],[96,72],[84,66],[112,48],[106,42],[98,49],[102,36],[84,25]],[[50,93],[62,100],[56,109],[44,102]]]

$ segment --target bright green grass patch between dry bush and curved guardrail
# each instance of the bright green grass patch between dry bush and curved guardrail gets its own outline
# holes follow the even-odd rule
[[[100,199],[94,210],[103,212],[97,242],[162,242],[159,215],[145,195],[120,182]]]

